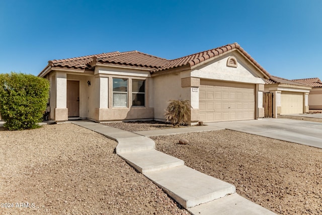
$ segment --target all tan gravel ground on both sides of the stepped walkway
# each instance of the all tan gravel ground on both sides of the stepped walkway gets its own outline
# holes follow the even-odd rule
[[[107,125],[171,128],[156,122]],[[322,149],[231,130],[151,138],[157,150],[234,184],[237,193],[278,214],[322,212]],[[180,138],[189,144],[179,145]],[[116,141],[93,131],[71,123],[0,128],[0,139],[0,202],[7,203],[1,214],[189,213],[119,158]]]

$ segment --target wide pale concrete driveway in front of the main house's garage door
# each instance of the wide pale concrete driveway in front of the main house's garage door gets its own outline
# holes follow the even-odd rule
[[[205,124],[322,149],[322,123],[320,122],[265,118]]]

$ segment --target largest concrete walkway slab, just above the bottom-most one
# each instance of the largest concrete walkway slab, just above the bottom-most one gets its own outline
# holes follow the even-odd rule
[[[185,208],[235,193],[235,186],[187,166],[143,173]]]

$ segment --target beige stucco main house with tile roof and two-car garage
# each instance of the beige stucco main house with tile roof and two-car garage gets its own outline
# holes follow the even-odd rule
[[[268,72],[237,43],[168,60],[138,51],[48,61],[49,118],[165,121],[169,100],[190,101],[188,124],[264,116]]]

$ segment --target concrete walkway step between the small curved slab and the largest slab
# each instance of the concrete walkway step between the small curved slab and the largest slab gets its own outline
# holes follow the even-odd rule
[[[156,150],[119,153],[118,155],[140,173],[164,170],[185,164],[183,160]]]

